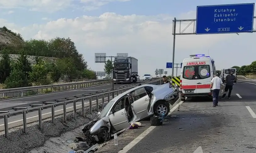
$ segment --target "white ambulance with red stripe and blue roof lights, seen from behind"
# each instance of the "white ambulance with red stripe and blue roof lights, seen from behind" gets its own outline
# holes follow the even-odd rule
[[[197,54],[184,59],[180,75],[181,101],[185,101],[186,97],[196,96],[212,98],[210,85],[214,74],[216,74],[216,68],[210,56]]]

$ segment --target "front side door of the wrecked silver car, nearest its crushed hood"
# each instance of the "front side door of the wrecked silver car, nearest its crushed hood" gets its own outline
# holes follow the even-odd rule
[[[122,130],[129,127],[127,112],[125,111],[125,99],[122,97],[111,109],[109,120],[115,130]]]

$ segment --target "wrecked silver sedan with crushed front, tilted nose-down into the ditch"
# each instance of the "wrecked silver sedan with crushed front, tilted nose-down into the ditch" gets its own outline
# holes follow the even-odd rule
[[[86,125],[83,132],[97,142],[109,140],[111,134],[129,127],[130,123],[153,115],[168,115],[179,88],[172,84],[144,84],[130,89],[109,101],[98,119]]]

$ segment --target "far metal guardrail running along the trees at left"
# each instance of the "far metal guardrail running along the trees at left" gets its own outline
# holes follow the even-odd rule
[[[93,81],[73,82],[64,84],[40,85],[32,87],[0,89],[0,99],[23,97],[28,95],[45,94],[71,89],[85,88],[92,85],[111,83],[112,79],[98,79]]]

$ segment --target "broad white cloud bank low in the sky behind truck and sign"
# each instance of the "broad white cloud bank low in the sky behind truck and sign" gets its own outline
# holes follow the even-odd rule
[[[177,19],[188,19],[192,16],[195,16],[195,12],[182,14]],[[122,16],[104,13],[98,17],[60,18],[28,27],[19,27],[7,23],[6,20],[0,20],[0,23],[21,33],[25,39],[70,37],[88,61],[89,67],[97,71],[103,71],[104,64],[94,64],[94,53],[107,53],[107,56],[128,53],[139,60],[139,74],[143,75],[154,74],[156,68],[165,69],[166,62],[172,62],[172,20],[173,17],[164,14]],[[181,28],[186,26],[185,23],[181,24]],[[178,27],[179,24],[177,32]],[[193,31],[192,26],[187,29],[189,31]],[[217,69],[250,64],[255,60],[254,38],[255,33],[177,35],[175,63],[181,63],[190,54],[208,54],[209,49]],[[167,71],[171,74],[171,69]]]

